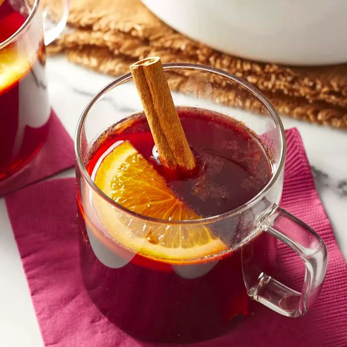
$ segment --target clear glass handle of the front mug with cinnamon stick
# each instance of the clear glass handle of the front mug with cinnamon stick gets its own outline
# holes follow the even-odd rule
[[[308,225],[279,206],[260,223],[260,228],[286,243],[300,256],[305,264],[305,278],[301,293],[290,289],[259,270],[252,252],[242,251],[247,293],[284,316],[300,317],[312,306],[322,289],[328,266],[327,247]]]

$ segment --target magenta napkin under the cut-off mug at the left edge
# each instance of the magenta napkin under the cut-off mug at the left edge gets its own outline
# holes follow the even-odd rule
[[[53,110],[49,122],[46,142],[23,169],[0,181],[0,196],[73,167],[73,141]]]

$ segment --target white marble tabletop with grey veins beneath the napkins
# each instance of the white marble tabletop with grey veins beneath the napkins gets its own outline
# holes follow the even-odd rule
[[[48,59],[49,94],[53,108],[71,137],[88,101],[111,77],[70,64],[63,57]],[[347,259],[347,131],[283,117],[285,128],[302,136],[316,186]],[[73,176],[68,170],[58,176]],[[43,346],[4,200],[0,199],[0,346]]]

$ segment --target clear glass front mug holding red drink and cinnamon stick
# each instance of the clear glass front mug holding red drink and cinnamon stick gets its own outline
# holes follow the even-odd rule
[[[256,88],[228,72],[185,63],[164,64],[164,69],[175,106],[232,116],[258,134],[271,154],[272,177],[244,205],[194,221],[157,220],[118,205],[94,184],[86,167],[106,130],[142,111],[130,73],[117,78],[85,108],[75,135],[80,264],[90,297],[125,332],[161,342],[223,334],[233,317],[247,313],[249,297],[285,316],[303,315],[320,293],[328,254],[315,231],[278,206],[286,157],[280,117]],[[222,233],[228,251],[170,261],[119,241],[119,235],[145,237],[160,228],[192,234],[203,227]],[[267,275],[274,268],[278,239],[305,265],[301,292]]]

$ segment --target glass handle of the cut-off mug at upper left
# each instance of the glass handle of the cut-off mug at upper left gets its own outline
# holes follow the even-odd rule
[[[45,3],[45,7],[43,10],[43,22],[44,22],[44,31],[45,31],[45,45],[48,46],[51,42],[53,42],[59,34],[63,31],[67,16],[69,13],[69,0],[60,0],[61,2],[61,14],[60,18],[56,20],[52,20],[49,15],[49,6],[50,1]]]

